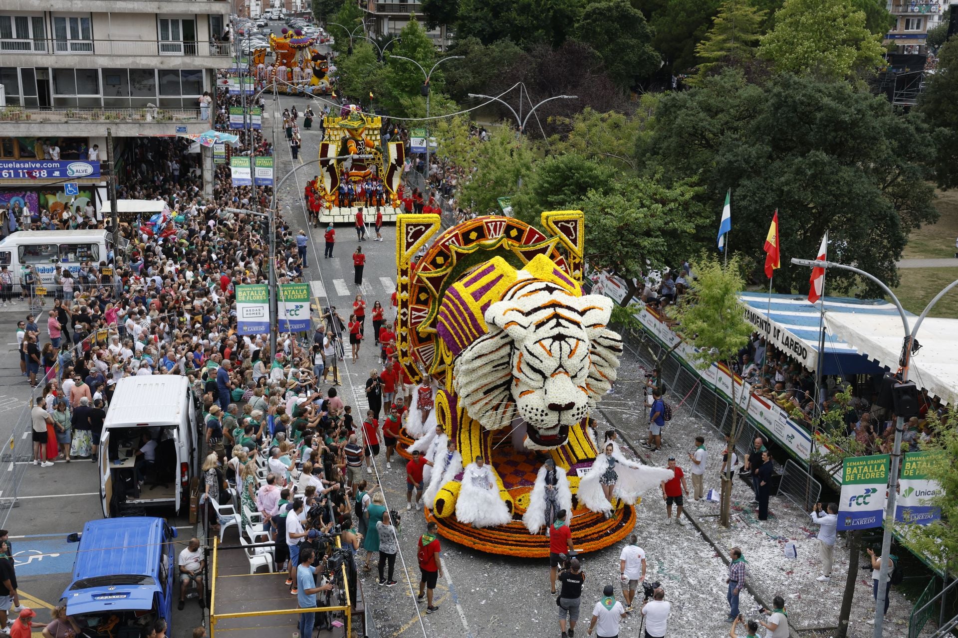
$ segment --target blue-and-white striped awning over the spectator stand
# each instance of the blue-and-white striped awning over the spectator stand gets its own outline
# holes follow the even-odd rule
[[[804,296],[772,295],[769,303],[767,293],[741,293],[745,306],[745,320],[765,336],[768,343],[787,352],[788,356],[810,370],[818,365],[819,320],[818,305],[811,305]],[[901,319],[895,306],[882,299],[856,299],[854,297],[825,297],[825,316],[858,315],[891,317]],[[826,320],[825,359],[823,374],[849,376],[853,374],[878,374],[885,366],[866,357],[855,347],[854,342],[839,337]],[[897,358],[896,358],[897,361]],[[897,364],[896,364],[897,366]]]

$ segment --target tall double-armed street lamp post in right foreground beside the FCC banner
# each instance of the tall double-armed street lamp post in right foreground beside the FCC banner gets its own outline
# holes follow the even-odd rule
[[[901,306],[901,301],[898,297],[895,297],[888,286],[886,286],[882,281],[880,281],[876,276],[870,275],[865,271],[859,270],[853,266],[846,266],[845,264],[838,264],[833,261],[819,261],[817,259],[798,259],[792,258],[791,263],[796,266],[808,266],[809,268],[838,268],[844,271],[851,271],[855,275],[861,275],[867,277],[878,284],[878,286],[885,292],[888,297],[891,297],[892,301],[895,303],[895,307],[898,308],[899,316],[901,317],[901,326],[904,330],[904,348],[901,353],[901,383],[908,381],[908,366],[911,363],[911,349],[912,345],[915,343],[915,338],[918,335],[918,329],[922,327],[922,322],[924,318],[928,316],[928,313],[934,307],[938,300],[945,296],[945,294],[958,286],[958,280],[952,281],[948,284],[945,289],[940,292],[935,298],[931,299],[928,302],[928,305],[924,307],[922,314],[919,316],[918,320],[915,321],[915,325],[909,329],[908,326],[908,317],[905,315],[904,308]],[[875,601],[875,633],[874,638],[881,638],[881,626],[884,623],[885,619],[885,597],[887,595],[887,586],[881,586],[882,583],[885,583],[888,579],[888,558],[889,552],[892,548],[892,532],[895,526],[895,501],[898,497],[898,487],[899,487],[899,465],[901,463],[901,432],[904,429],[904,417],[901,414],[897,415],[896,424],[895,424],[895,447],[892,450],[892,463],[890,470],[890,477],[888,480],[888,502],[885,504],[885,524],[884,532],[881,537],[881,565],[878,569],[878,595]]]

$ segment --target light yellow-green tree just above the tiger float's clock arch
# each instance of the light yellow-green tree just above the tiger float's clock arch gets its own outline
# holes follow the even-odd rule
[[[511,126],[493,128],[489,140],[477,148],[475,172],[460,189],[460,203],[477,214],[498,211],[498,198],[515,194],[534,161],[531,144]]]

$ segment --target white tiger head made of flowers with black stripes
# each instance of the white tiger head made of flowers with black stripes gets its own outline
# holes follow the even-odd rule
[[[518,275],[487,308],[489,332],[456,358],[453,387],[484,428],[524,421],[526,447],[549,450],[615,381],[622,338],[607,327],[610,298]]]

